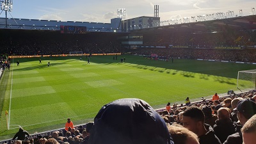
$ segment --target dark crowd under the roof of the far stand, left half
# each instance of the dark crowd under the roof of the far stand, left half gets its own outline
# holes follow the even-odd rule
[[[116,33],[61,34],[59,31],[1,29],[1,52],[10,55],[40,55],[123,52]]]

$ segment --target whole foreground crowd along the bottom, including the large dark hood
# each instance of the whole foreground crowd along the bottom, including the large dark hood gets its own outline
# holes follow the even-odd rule
[[[186,106],[171,107],[169,102],[160,113],[143,100],[119,99],[102,106],[85,129],[68,127],[64,133],[15,143],[249,144],[254,140],[250,134],[256,132],[255,99],[255,92],[221,99],[216,93],[211,100],[193,104],[187,98]]]

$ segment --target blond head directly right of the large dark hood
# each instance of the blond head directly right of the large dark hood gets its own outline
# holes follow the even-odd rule
[[[168,125],[168,131],[175,144],[199,144],[196,134],[181,125]]]

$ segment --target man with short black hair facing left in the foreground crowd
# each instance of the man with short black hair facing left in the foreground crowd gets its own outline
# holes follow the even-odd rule
[[[211,125],[204,123],[204,112],[196,106],[188,107],[182,116],[183,126],[194,132],[200,144],[221,144]]]

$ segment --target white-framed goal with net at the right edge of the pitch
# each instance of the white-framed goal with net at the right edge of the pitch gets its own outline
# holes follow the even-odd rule
[[[237,74],[237,88],[239,90],[255,90],[256,70],[243,70]]]

